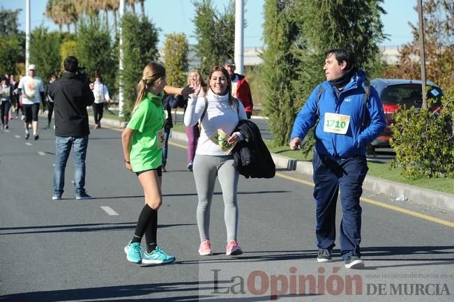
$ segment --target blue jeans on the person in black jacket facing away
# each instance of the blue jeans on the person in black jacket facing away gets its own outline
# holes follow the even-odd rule
[[[55,139],[55,167],[54,167],[54,195],[61,196],[65,186],[65,168],[71,147],[74,160],[74,186],[76,195],[85,192],[85,158],[86,148],[89,145],[89,136],[61,137]]]

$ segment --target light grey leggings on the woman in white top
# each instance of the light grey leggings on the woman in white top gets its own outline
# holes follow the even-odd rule
[[[196,154],[194,158],[195,188],[199,197],[197,205],[197,226],[200,241],[209,240],[210,206],[216,176],[219,178],[224,199],[224,220],[227,229],[227,241],[236,241],[238,229],[238,204],[236,192],[238,188],[238,171],[232,166],[233,156],[203,156]]]

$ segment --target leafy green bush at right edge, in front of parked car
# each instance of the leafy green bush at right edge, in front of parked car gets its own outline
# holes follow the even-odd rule
[[[441,110],[401,108],[393,117],[391,167],[407,179],[454,178],[454,91],[441,99]]]

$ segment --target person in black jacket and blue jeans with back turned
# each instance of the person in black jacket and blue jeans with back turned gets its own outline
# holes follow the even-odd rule
[[[52,199],[61,199],[65,184],[65,167],[71,148],[74,157],[74,186],[76,199],[91,199],[85,192],[85,158],[89,144],[89,115],[86,107],[95,100],[86,75],[81,74],[79,61],[68,56],[64,73],[52,82],[49,96],[54,99],[55,112],[55,168],[54,194]]]

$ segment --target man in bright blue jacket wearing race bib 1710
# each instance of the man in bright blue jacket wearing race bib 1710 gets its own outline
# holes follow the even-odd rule
[[[361,243],[363,181],[368,172],[366,146],[385,128],[383,106],[356,67],[354,54],[345,49],[325,53],[326,81],[315,87],[296,117],[290,148],[301,148],[308,130],[315,128],[314,197],[318,262],[331,262],[335,246],[335,210],[340,190],[340,254],[347,269],[364,266]],[[370,90],[369,90],[370,89]]]

